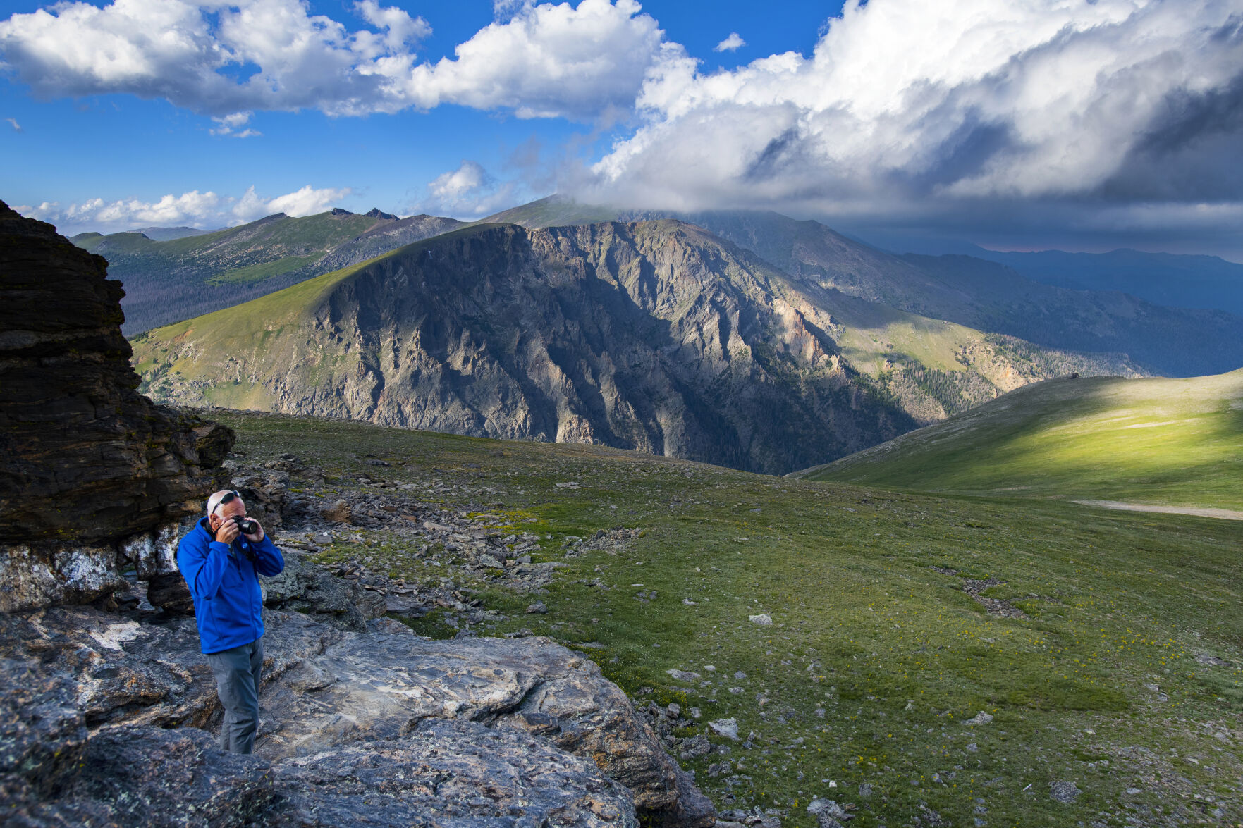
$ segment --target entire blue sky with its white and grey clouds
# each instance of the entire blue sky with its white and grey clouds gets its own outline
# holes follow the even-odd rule
[[[76,232],[327,206],[477,218],[562,191],[1241,260],[1239,15],[1243,0],[9,0],[0,153],[21,162],[0,198]]]

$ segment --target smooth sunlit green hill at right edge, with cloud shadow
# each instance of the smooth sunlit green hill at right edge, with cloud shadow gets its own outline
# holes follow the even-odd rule
[[[1243,508],[1243,369],[1054,379],[837,462],[813,480]]]

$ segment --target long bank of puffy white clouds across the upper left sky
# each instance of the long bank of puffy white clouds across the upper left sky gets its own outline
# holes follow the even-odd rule
[[[0,57],[44,97],[123,92],[216,117],[457,103],[593,119],[629,111],[664,53],[635,0],[501,4],[496,22],[435,63],[416,56],[431,31],[423,17],[377,0],[353,10],[369,27],[305,0],[68,0],[0,21]]]

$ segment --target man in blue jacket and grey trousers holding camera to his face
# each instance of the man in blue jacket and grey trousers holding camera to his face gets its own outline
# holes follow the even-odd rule
[[[194,597],[199,643],[225,709],[220,747],[255,750],[259,676],[264,668],[264,599],[257,576],[280,574],[281,551],[259,521],[246,517],[236,491],[208,499],[208,515],[181,538],[177,567]]]

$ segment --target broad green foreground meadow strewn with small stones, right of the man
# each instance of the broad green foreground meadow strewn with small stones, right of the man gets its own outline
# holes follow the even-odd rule
[[[326,486],[293,484],[319,502],[424,497],[539,533],[536,559],[566,564],[539,596],[383,530],[336,527],[322,558],[449,579],[503,613],[477,634],[553,637],[636,704],[696,709],[679,736],[736,719],[750,746],[707,734],[730,752],[681,762],[718,808],[777,808],[787,828],[817,824],[814,796],[854,806],[854,828],[1243,821],[1237,523],[895,494],[602,446],[211,416],[237,430],[246,462],[291,451],[321,466]],[[358,481],[377,474],[415,489]],[[566,554],[571,536],[617,526],[641,535]],[[987,612],[966,578],[997,582],[983,594],[1024,617]],[[532,600],[548,613],[525,613]],[[410,623],[451,637],[461,620],[449,625],[450,612]],[[772,625],[748,620],[761,613]],[[979,711],[993,721],[965,724]],[[728,770],[712,767],[722,761]],[[1054,781],[1083,793],[1054,802]]]

